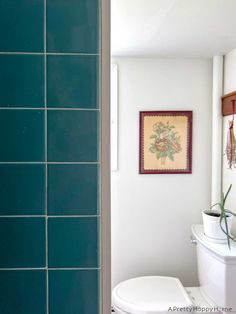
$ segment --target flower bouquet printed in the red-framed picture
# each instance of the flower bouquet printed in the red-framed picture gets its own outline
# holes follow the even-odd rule
[[[153,125],[153,134],[150,139],[153,140],[149,151],[161,160],[161,164],[165,164],[166,158],[174,161],[174,155],[181,152],[180,138],[178,132],[175,132],[175,126],[166,123],[157,122]]]

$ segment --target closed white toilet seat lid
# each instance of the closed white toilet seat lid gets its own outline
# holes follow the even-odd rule
[[[168,312],[174,307],[191,308],[192,301],[178,278],[146,276],[118,284],[113,305],[130,314]]]

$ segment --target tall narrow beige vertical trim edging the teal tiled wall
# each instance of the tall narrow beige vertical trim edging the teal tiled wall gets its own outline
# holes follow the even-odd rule
[[[111,313],[110,60],[110,0],[101,0],[101,314]]]

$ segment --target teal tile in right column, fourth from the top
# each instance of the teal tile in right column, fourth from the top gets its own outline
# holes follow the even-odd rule
[[[48,165],[49,215],[98,212],[97,165]]]

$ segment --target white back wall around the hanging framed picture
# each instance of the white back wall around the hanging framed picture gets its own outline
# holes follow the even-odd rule
[[[212,61],[114,58],[119,171],[112,172],[112,278],[178,276],[197,285],[192,224],[211,196]],[[139,111],[193,110],[193,173],[139,175]]]

